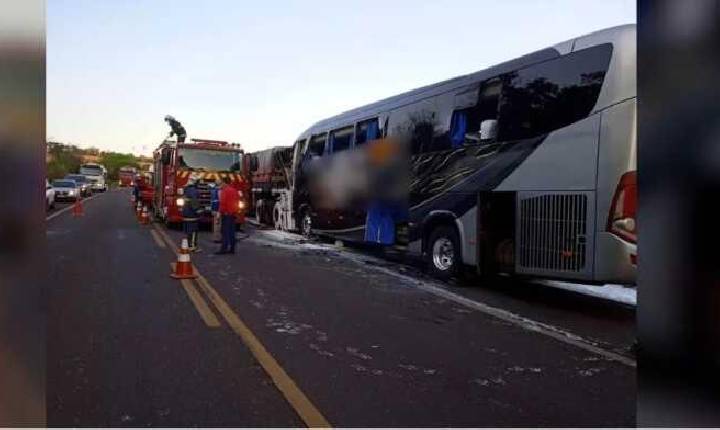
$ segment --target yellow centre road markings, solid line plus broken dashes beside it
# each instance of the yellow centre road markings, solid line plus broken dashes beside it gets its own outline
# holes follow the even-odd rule
[[[164,248],[165,245],[167,245],[177,254],[178,247],[165,230],[157,224],[153,224],[153,229],[150,230],[150,233],[158,246]],[[161,245],[162,242],[164,243]],[[196,281],[200,289],[210,299],[227,325],[230,326],[233,332],[240,336],[245,345],[247,345],[255,359],[270,376],[275,387],[280,390],[288,403],[290,403],[290,406],[300,416],[300,419],[302,419],[308,427],[331,427],[330,423],[305,393],[302,392],[290,375],[285,372],[285,369],[283,369],[277,360],[268,352],[252,330],[250,330],[242,319],[230,308],[222,296],[210,285],[210,282],[200,274],[197,266],[194,267],[195,272],[198,274]],[[197,291],[193,282],[189,279],[183,279],[180,283],[205,324],[208,327],[220,327],[220,321],[202,295]]]

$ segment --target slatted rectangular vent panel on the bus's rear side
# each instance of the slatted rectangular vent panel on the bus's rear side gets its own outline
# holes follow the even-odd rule
[[[594,191],[520,191],[515,214],[516,273],[592,278]]]

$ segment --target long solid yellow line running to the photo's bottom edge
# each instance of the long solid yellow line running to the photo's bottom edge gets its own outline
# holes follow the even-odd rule
[[[277,360],[270,355],[265,349],[260,340],[253,334],[245,323],[242,322],[240,317],[233,312],[230,306],[225,300],[220,297],[220,294],[215,291],[210,283],[205,279],[204,276],[198,273],[198,284],[205,291],[205,294],[210,297],[210,301],[213,302],[215,308],[220,312],[220,315],[225,318],[225,321],[233,329],[233,331],[242,338],[243,342],[250,348],[260,365],[270,375],[270,378],[275,383],[275,386],[285,396],[288,403],[295,409],[300,415],[300,418],[307,424],[308,427],[330,427],[330,423],[320,413],[320,411],[313,405],[310,399],[307,398],[305,393],[300,390],[295,381],[285,372],[285,369],[278,364]]]

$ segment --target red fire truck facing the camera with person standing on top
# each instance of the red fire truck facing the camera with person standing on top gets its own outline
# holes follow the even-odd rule
[[[210,190],[215,181],[229,177],[240,191],[236,222],[245,222],[249,181],[243,169],[243,150],[239,144],[219,140],[190,139],[178,143],[165,140],[153,153],[153,211],[166,224],[182,221],[185,204],[183,187],[195,180],[200,201],[200,222],[212,221]]]

